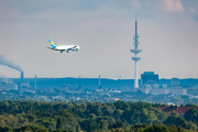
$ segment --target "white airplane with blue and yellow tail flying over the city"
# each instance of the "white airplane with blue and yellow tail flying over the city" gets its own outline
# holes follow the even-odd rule
[[[80,48],[78,45],[55,45],[51,38],[48,38],[48,41],[51,43],[51,47],[46,47],[46,48],[59,51],[61,53],[63,53],[65,51],[67,53],[69,53],[69,51],[78,52],[78,50]]]

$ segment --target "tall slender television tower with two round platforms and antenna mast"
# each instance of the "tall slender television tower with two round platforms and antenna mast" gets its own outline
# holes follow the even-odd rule
[[[136,13],[136,12],[135,12]],[[136,55],[142,52],[142,50],[139,50],[139,35],[138,35],[138,20],[135,15],[135,35],[134,35],[134,50],[131,50],[132,53],[134,53],[134,57],[132,59],[134,61],[134,88],[139,88],[139,76],[138,76],[138,61],[141,59],[141,57],[138,57]]]

